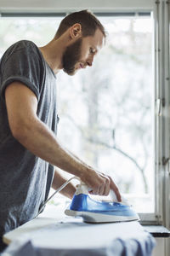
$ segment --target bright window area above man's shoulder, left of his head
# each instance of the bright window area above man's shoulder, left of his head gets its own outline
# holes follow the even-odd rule
[[[0,56],[11,44],[31,40],[38,46],[47,44],[54,37],[61,17],[56,18],[1,18]]]

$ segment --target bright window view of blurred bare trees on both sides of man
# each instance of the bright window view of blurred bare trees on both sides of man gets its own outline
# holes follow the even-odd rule
[[[38,46],[62,18],[1,18],[0,56],[16,41]],[[99,17],[108,32],[93,67],[57,75],[59,140],[114,178],[139,212],[154,212],[153,27],[146,17]]]

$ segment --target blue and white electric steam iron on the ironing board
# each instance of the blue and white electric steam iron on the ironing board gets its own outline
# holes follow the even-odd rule
[[[82,217],[88,223],[107,223],[139,220],[139,215],[127,202],[95,201],[88,195],[88,187],[81,183],[65,214]]]

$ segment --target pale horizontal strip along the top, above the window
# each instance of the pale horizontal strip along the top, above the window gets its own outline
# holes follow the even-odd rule
[[[153,0],[0,0],[1,12],[69,12],[78,9],[90,9],[92,11],[129,9],[151,9]]]

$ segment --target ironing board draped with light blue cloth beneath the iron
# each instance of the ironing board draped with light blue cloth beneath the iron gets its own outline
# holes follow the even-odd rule
[[[5,253],[11,256],[149,256],[155,246],[137,221],[87,224],[82,218],[65,217],[63,209],[54,206],[5,234],[3,241],[9,244]]]

